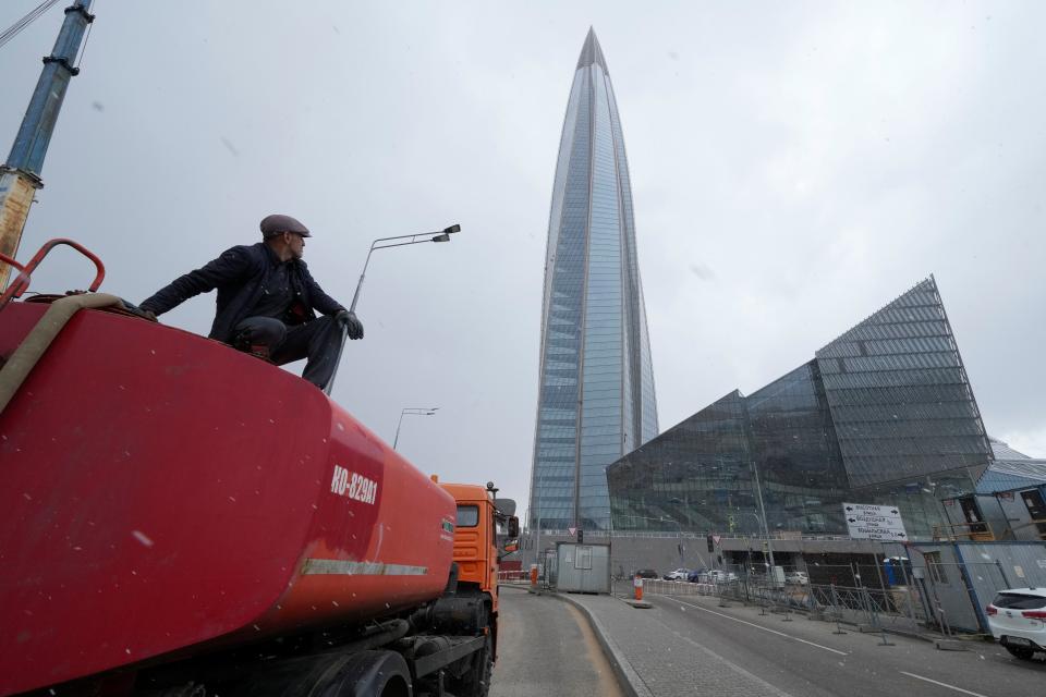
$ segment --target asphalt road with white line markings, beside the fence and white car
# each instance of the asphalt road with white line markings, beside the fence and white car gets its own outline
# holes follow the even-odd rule
[[[654,632],[666,639],[662,650],[674,651],[681,660],[694,651],[725,659],[779,697],[1046,694],[1046,662],[1019,661],[994,644],[974,641],[969,651],[939,651],[926,641],[888,636],[893,646],[885,646],[879,635],[846,626],[847,634],[834,634],[834,624],[803,615],[786,622],[782,615],[763,615],[737,603],[720,608],[713,598],[647,599],[654,609],[645,611],[644,624],[653,622]],[[701,687],[689,685],[693,692],[688,694],[702,694]]]

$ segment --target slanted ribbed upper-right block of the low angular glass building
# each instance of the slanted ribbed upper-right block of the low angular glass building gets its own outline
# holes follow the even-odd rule
[[[981,412],[933,277],[816,356],[850,486],[989,461]]]

